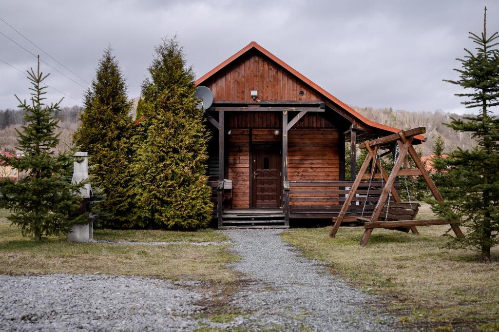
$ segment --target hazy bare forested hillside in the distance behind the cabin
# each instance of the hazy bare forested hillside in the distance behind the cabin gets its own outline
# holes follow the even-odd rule
[[[134,106],[137,103],[134,100]],[[445,126],[451,117],[462,118],[466,115],[445,113],[437,110],[434,112],[409,112],[405,110],[392,110],[391,108],[354,107],[356,111],[373,121],[392,127],[409,129],[415,127],[426,127],[428,137],[426,143],[422,144],[423,155],[431,153],[435,134],[440,133],[445,140],[445,151],[449,152],[457,147],[470,149],[475,145],[468,133],[457,133]],[[58,149],[64,150],[71,145],[71,137],[78,125],[79,113],[83,110],[81,106],[62,107],[55,117],[60,120],[59,131],[61,132]],[[135,109],[132,110],[134,116]],[[0,150],[14,151],[17,133],[16,127],[24,125],[23,111],[19,109],[0,109]]]

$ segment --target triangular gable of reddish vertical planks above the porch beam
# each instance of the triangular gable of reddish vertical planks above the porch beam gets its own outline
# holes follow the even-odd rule
[[[324,99],[308,84],[256,51],[241,56],[203,85],[212,90],[215,100],[251,100],[251,90],[257,90],[261,100]]]

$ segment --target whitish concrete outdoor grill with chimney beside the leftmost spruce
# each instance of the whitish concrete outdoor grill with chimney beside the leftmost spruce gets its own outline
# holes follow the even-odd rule
[[[74,154],[73,163],[73,179],[71,183],[79,183],[83,180],[88,179],[88,152],[76,152]],[[81,162],[78,159],[83,158]],[[85,184],[80,188],[81,197],[85,202],[90,199],[90,193],[92,192],[92,187],[90,183]],[[93,240],[93,222],[91,218],[83,224],[74,225],[69,234],[67,235],[67,240],[71,242],[90,242]]]

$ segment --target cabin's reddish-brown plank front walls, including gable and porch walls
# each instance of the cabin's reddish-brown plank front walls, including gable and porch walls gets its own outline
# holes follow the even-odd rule
[[[220,101],[252,101],[250,90],[257,90],[260,100],[324,100],[308,84],[256,51],[244,54],[203,85]],[[294,114],[290,112],[289,118]],[[280,143],[281,129],[281,112],[226,112],[225,130],[231,134],[226,136],[225,174],[233,181],[234,209],[250,208],[251,144]],[[279,135],[274,130],[279,130]],[[318,113],[307,113],[288,132],[288,179],[339,180],[338,137],[333,123]],[[290,202],[301,204],[327,203]]]

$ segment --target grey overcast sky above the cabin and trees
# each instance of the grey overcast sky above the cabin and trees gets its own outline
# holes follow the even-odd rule
[[[178,33],[199,76],[254,40],[342,101],[354,106],[463,113],[456,57],[473,47],[468,31],[499,30],[497,1],[0,0],[0,17],[76,73],[76,77],[0,20],[0,32],[64,73],[46,82],[81,104],[108,43],[127,77],[129,96],[155,44]],[[33,55],[0,34],[0,59],[25,70]],[[28,82],[0,61],[0,109],[28,97]],[[61,94],[49,89],[49,101]]]

